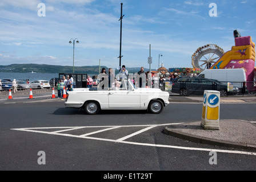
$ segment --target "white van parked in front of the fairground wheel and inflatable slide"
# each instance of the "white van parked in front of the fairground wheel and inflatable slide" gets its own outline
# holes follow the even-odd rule
[[[210,78],[223,82],[233,82],[234,86],[242,88],[243,83],[246,82],[245,69],[205,69],[197,77]]]

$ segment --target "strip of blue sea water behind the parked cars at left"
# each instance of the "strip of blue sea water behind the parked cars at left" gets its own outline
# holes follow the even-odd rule
[[[10,79],[13,81],[13,79],[16,80],[27,80],[30,81],[33,80],[47,80],[50,81],[51,78],[58,78],[58,73],[6,73],[6,72],[0,72],[0,80],[4,79]]]

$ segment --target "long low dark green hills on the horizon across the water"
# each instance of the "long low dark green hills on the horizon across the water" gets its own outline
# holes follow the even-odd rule
[[[102,68],[108,67],[101,66]],[[129,73],[137,73],[141,70],[140,67],[137,68],[126,68]],[[98,75],[99,74],[99,65],[94,66],[84,66],[84,67],[74,67],[75,73],[87,73],[89,75]],[[151,69],[153,71],[155,69]],[[149,69],[144,69],[145,72]],[[73,67],[71,66],[60,66],[60,65],[48,65],[48,64],[10,64],[10,65],[0,65],[0,72],[13,72],[13,73],[72,73]],[[117,73],[117,71],[116,71]]]

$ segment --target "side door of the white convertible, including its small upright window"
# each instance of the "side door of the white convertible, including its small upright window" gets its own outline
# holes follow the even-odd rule
[[[122,81],[122,86],[118,90],[109,90],[109,107],[118,108],[131,108],[140,107],[141,98],[140,93],[136,92],[129,85],[128,81]]]

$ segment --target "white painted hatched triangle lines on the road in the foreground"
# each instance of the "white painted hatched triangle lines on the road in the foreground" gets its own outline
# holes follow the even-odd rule
[[[75,126],[75,127],[32,127],[32,128],[21,128],[21,129],[11,129],[11,130],[18,130],[18,131],[29,131],[34,133],[43,133],[43,134],[50,134],[50,135],[60,135],[65,137],[75,137],[75,138],[83,138],[83,139],[94,139],[94,140],[102,140],[107,142],[115,142],[115,143],[126,143],[126,144],[135,144],[140,146],[151,146],[151,147],[164,147],[164,148],[175,148],[175,149],[182,149],[182,150],[194,150],[194,151],[215,151],[215,152],[222,152],[222,153],[229,153],[229,154],[245,154],[245,155],[256,155],[256,152],[244,152],[244,151],[234,151],[234,150],[217,150],[212,148],[195,148],[195,147],[182,147],[182,146],[169,146],[165,144],[151,144],[151,143],[139,143],[139,142],[128,142],[125,141],[125,139],[133,137],[135,135],[138,135],[140,133],[143,133],[144,131],[150,130],[157,126],[167,126],[167,125],[178,125],[181,123],[168,123],[168,124],[162,124],[162,125],[127,125],[127,126]],[[119,138],[117,140],[114,139],[105,139],[105,138],[95,138],[95,137],[87,137],[88,135],[100,133],[102,131],[107,130],[113,130],[117,129],[119,127],[141,127],[145,126],[145,129],[139,130],[133,134],[127,135],[126,137]],[[83,135],[71,135],[71,134],[65,134],[61,132],[70,131],[70,130],[77,130],[82,128],[97,128],[97,127],[107,127],[107,129],[94,131],[92,133],[87,133]],[[62,129],[58,131],[40,131],[39,129],[45,130],[45,129]],[[65,129],[65,130],[63,130]]]

